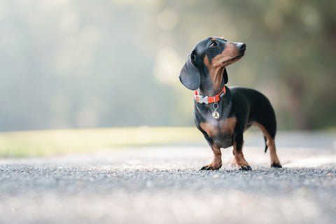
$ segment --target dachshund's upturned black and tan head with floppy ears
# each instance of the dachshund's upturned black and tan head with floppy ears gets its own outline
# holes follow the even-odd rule
[[[181,69],[181,83],[190,90],[196,90],[201,85],[201,74],[215,76],[218,71],[223,73],[223,79],[228,83],[225,66],[237,62],[244,56],[245,50],[245,43],[228,42],[224,38],[209,37],[198,42]]]

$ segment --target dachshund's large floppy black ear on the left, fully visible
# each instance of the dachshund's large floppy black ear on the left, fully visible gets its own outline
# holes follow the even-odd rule
[[[201,85],[201,73],[191,61],[191,54],[188,54],[187,61],[181,69],[179,76],[181,83],[189,90],[196,90]]]

